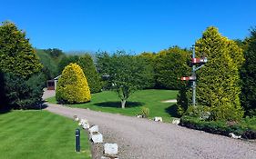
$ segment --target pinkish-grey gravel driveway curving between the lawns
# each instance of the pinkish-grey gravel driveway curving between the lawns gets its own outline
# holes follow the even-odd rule
[[[255,159],[256,144],[208,134],[175,124],[48,104],[46,110],[87,118],[99,125],[104,142],[117,143],[120,159]]]

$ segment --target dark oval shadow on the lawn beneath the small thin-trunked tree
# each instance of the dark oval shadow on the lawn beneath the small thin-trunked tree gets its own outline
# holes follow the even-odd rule
[[[116,108],[121,108],[121,102],[101,102],[95,104],[97,106],[101,107],[116,107]],[[140,102],[127,102],[126,107],[137,107],[137,106],[142,106],[143,103]]]

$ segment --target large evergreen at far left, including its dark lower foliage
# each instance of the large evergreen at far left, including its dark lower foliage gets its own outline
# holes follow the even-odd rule
[[[0,25],[0,106],[35,108],[40,104],[43,81],[36,51],[26,34],[10,22]]]

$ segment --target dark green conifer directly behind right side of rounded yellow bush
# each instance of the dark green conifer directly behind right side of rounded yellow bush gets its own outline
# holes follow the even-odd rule
[[[79,56],[78,65],[82,67],[85,75],[87,76],[87,82],[91,93],[94,94],[100,92],[102,83],[91,55],[86,54]]]

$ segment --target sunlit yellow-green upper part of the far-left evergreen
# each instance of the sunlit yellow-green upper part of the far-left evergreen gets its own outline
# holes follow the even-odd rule
[[[0,26],[0,70],[28,77],[42,68],[35,49],[29,44],[25,32],[15,24],[4,22]]]

